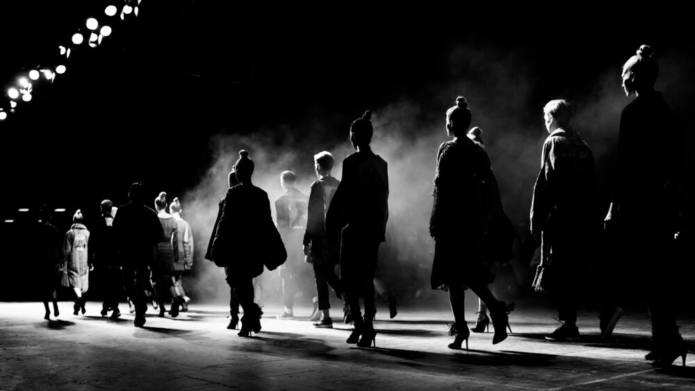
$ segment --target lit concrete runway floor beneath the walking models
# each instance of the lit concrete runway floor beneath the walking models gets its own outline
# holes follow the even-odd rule
[[[395,319],[380,312],[377,348],[361,349],[345,344],[345,324],[313,328],[310,308],[281,321],[279,306],[265,306],[261,333],[240,338],[226,329],[224,306],[193,303],[176,319],[150,308],[145,328],[135,328],[125,305],[117,320],[101,317],[97,302],[78,316],[72,303],[59,305],[60,317],[47,321],[41,303],[0,303],[0,389],[695,389],[695,358],[660,370],[643,359],[649,323],[639,312],[623,316],[611,343],[598,342],[595,317],[580,319],[578,342],[557,343],[543,339],[557,326],[555,313],[518,303],[505,342],[473,334],[470,350],[453,351],[443,309],[400,308]],[[680,326],[690,340],[692,322]]]

